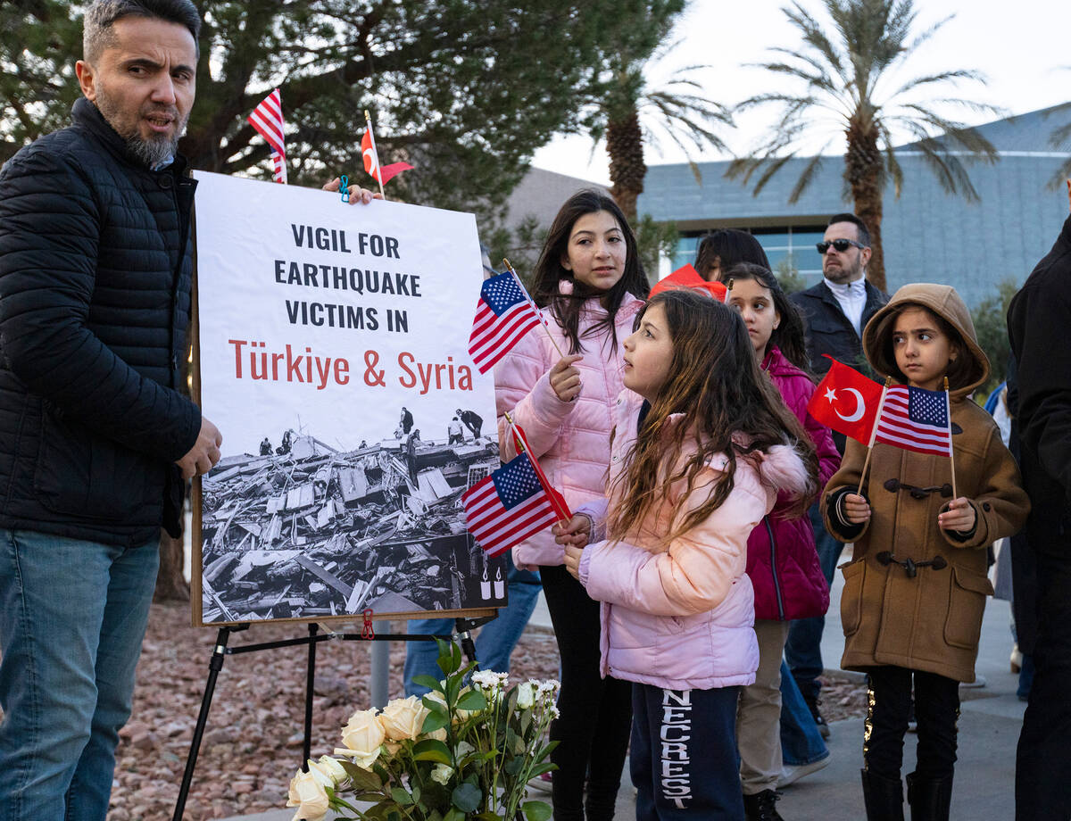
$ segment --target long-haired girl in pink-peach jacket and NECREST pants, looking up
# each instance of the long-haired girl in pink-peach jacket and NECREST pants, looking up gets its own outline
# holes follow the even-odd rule
[[[603,673],[634,682],[637,819],[740,821],[737,697],[758,666],[748,536],[779,493],[805,510],[814,446],[721,303],[664,291],[623,347],[607,498],[555,533],[602,603]]]

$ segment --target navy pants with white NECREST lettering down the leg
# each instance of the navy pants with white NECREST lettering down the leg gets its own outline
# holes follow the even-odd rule
[[[742,821],[736,746],[740,688],[632,687],[629,760],[637,821]]]

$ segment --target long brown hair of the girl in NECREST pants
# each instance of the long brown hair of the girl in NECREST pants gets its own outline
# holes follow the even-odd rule
[[[795,447],[808,470],[808,487],[794,498],[789,514],[802,515],[818,489],[818,459],[814,444],[796,415],[759,369],[740,315],[722,303],[685,289],[662,291],[636,317],[662,306],[673,360],[669,374],[639,424],[612,495],[607,532],[623,538],[638,529],[668,495],[670,486],[687,481],[690,493],[708,460],[724,453],[728,463],[708,499],[666,536],[670,541],[706,519],[728,498],[738,458],[760,459],[773,445]],[[670,414],[682,419],[668,423]],[[695,452],[675,468],[691,440]]]

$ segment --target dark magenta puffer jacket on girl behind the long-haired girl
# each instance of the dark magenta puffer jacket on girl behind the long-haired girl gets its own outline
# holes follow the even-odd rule
[[[806,412],[814,382],[776,346],[767,352],[763,369],[811,435],[818,451],[818,487],[825,487],[841,467],[841,455],[829,428]],[[787,506],[779,502],[748,538],[748,576],[755,588],[756,619],[808,619],[829,609],[829,587],[818,564],[811,519],[805,515],[784,518]]]

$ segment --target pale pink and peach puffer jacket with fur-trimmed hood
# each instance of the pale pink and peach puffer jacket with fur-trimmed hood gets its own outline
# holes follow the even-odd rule
[[[610,455],[610,482],[636,439],[643,399],[622,393]],[[674,424],[670,417],[666,424]],[[694,452],[694,451],[693,451]],[[680,458],[687,458],[687,453]],[[779,490],[799,492],[805,467],[787,445],[770,448],[759,463],[738,458],[728,498],[702,523],[668,544],[674,524],[708,498],[725,469],[718,454],[684,495],[682,480],[638,532],[620,542],[584,549],[580,582],[602,602],[602,673],[666,689],[711,689],[755,681],[752,587],[744,573],[748,535],[773,508]],[[614,485],[610,484],[614,493]],[[609,504],[614,503],[610,497]],[[583,510],[605,520],[606,501]]]

